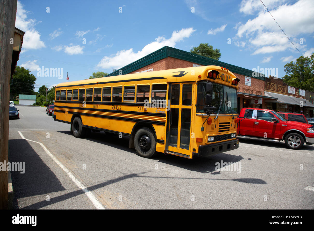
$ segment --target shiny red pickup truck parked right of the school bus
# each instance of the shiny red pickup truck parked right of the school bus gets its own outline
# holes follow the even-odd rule
[[[290,149],[314,143],[314,126],[288,121],[277,112],[261,108],[243,108],[237,124],[237,138],[283,142]]]

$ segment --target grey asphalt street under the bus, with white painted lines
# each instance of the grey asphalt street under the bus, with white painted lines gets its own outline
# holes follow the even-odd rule
[[[16,107],[9,162],[25,173],[11,171],[14,209],[314,209],[314,145],[241,140],[211,157],[146,159],[118,135],[78,139],[45,107]],[[225,162],[240,168],[217,171]]]

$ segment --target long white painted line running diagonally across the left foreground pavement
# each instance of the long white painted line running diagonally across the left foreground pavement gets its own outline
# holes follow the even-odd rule
[[[66,172],[68,174],[68,176],[70,177],[70,179],[81,189],[84,191],[84,193],[88,196],[89,200],[94,204],[94,206],[96,207],[96,209],[105,209],[105,207],[97,200],[97,198],[95,197],[95,195],[86,187],[84,186],[81,182],[78,181],[78,179],[76,179],[73,174],[66,168],[64,167],[64,165],[54,156],[51,154],[51,152],[40,142],[34,141],[34,140],[29,140],[29,139],[25,139],[24,135],[19,131],[20,136],[22,137],[22,139],[24,140],[28,140],[28,141],[32,141],[35,142],[37,144],[40,144],[40,146],[46,151],[46,153],[60,166],[60,168],[62,168],[62,170],[64,172]]]

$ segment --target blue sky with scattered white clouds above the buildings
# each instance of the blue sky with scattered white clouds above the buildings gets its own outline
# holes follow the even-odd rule
[[[262,0],[304,56],[314,52],[313,0]],[[47,12],[49,11],[49,12]],[[120,12],[119,12],[120,11]],[[243,1],[18,1],[15,26],[25,31],[17,65],[37,78],[35,91],[111,73],[164,46],[190,51],[208,43],[222,62],[278,69],[295,61],[293,47],[260,0]],[[228,43],[229,41],[229,43]],[[38,68],[58,76],[38,76]]]

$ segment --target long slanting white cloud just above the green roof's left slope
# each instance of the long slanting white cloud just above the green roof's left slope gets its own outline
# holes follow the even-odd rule
[[[155,39],[155,41],[147,44],[141,51],[133,52],[133,48],[128,50],[122,50],[116,52],[116,54],[111,57],[105,56],[98,63],[98,67],[101,68],[121,68],[129,63],[132,63],[139,58],[142,58],[164,46],[175,47],[176,43],[182,41],[184,38],[188,38],[192,35],[193,27],[182,29],[180,31],[173,31],[171,38],[165,39],[165,37],[160,36]]]

